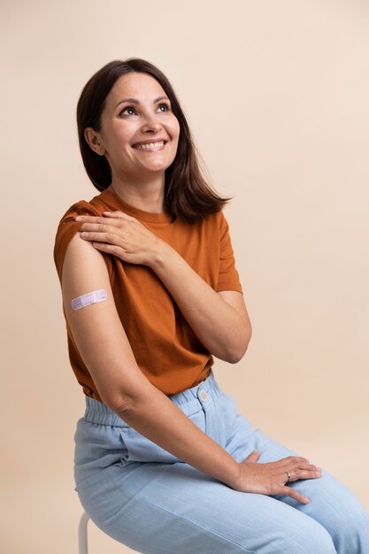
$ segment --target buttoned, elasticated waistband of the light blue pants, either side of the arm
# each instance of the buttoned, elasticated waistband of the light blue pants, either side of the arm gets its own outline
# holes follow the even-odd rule
[[[221,389],[215,380],[211,369],[208,377],[198,383],[195,387],[183,390],[176,395],[169,395],[168,398],[180,408],[187,416],[198,412],[200,409],[207,410],[211,404],[216,402]],[[130,427],[117,413],[113,412],[106,404],[95,398],[86,396],[86,411],[83,419],[100,425],[111,425],[113,427]]]

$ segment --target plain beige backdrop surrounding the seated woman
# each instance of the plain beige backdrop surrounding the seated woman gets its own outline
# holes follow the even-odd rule
[[[253,423],[369,508],[369,5],[364,0],[8,0],[2,77],[0,550],[77,551],[70,369],[52,260],[65,210],[95,196],[81,88],[139,56],[173,81],[227,208],[253,324],[219,383]],[[128,550],[90,528],[91,554]]]

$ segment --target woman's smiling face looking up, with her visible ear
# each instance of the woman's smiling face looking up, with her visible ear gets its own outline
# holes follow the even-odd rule
[[[147,73],[127,73],[106,97],[98,133],[85,136],[104,154],[112,177],[164,173],[175,158],[180,124],[164,89]]]

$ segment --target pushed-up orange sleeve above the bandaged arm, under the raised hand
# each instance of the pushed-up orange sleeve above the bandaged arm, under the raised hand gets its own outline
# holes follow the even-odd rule
[[[101,212],[98,209],[81,200],[76,204],[73,204],[60,219],[58,224],[57,235],[55,237],[54,244],[54,262],[57,267],[59,281],[62,281],[62,270],[65,258],[65,252],[68,248],[69,242],[72,241],[73,236],[78,232],[81,227],[81,221],[75,221],[78,215],[94,215],[101,216]],[[109,275],[111,276],[111,260],[108,254],[103,253],[105,264],[107,266]]]

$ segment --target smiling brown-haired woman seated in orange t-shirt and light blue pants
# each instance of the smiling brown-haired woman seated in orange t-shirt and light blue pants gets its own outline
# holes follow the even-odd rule
[[[357,499],[238,414],[213,358],[251,336],[220,198],[158,68],[111,62],[81,93],[81,154],[101,194],[61,219],[55,262],[71,365],[81,504],[150,554],[364,554]]]

